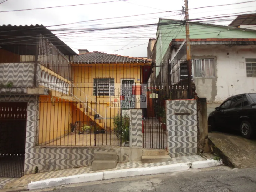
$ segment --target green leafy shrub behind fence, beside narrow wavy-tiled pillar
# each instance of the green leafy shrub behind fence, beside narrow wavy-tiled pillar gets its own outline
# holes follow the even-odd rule
[[[116,115],[114,117],[114,133],[122,142],[130,141],[130,118],[129,115]]]

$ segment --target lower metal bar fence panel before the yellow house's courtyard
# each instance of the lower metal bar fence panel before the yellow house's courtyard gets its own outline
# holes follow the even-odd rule
[[[107,105],[40,98],[39,145],[129,146],[129,110]]]

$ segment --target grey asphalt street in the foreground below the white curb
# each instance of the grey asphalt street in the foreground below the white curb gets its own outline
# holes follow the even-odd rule
[[[37,190],[42,191],[42,190]],[[45,190],[47,191],[47,190]],[[95,183],[51,188],[54,192],[254,192],[256,168],[232,169],[225,166],[151,176],[129,177]]]

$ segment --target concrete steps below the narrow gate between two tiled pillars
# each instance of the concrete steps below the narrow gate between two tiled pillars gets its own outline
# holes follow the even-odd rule
[[[142,163],[159,163],[171,161],[171,157],[165,149],[143,149],[142,150]]]

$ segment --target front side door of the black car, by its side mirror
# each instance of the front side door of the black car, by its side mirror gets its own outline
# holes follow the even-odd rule
[[[229,109],[231,103],[232,103],[231,98],[224,101],[220,105],[219,110],[216,112],[215,121],[217,125],[222,128],[225,128],[227,126],[227,110]]]

